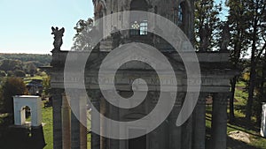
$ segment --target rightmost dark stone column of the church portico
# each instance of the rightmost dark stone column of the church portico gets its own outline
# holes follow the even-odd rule
[[[213,98],[212,138],[213,149],[225,149],[227,139],[228,93],[215,93]]]

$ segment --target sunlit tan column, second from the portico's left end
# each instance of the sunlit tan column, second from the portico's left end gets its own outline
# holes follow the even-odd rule
[[[71,108],[66,99],[66,93],[62,93],[62,136],[63,149],[71,148]]]

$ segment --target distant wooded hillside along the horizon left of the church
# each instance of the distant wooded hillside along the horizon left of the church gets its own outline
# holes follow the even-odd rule
[[[46,66],[51,63],[51,55],[0,53],[0,63],[4,60],[19,60],[22,63],[33,62],[36,66]]]

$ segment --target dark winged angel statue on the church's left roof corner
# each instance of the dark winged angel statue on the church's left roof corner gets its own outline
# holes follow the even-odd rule
[[[51,27],[52,33],[54,35],[54,41],[53,41],[53,46],[55,50],[60,50],[62,44],[63,44],[63,39],[62,37],[64,36],[65,33],[65,28],[62,27],[59,30],[59,27]]]

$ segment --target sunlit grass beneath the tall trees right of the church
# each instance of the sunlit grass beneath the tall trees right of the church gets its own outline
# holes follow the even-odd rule
[[[255,119],[253,117],[252,123],[245,122],[245,109],[246,109],[246,100],[247,93],[243,92],[245,84],[243,82],[238,83],[235,99],[237,100],[234,103],[235,107],[235,116],[236,120],[233,124],[227,123],[227,132],[240,130],[246,132],[250,135],[251,142],[249,144],[234,140],[228,137],[228,149],[266,149],[266,138],[260,136],[260,125],[254,123]],[[229,108],[228,108],[229,109]],[[210,138],[210,129],[211,129],[211,111],[212,107],[207,106],[206,114],[206,126],[207,126],[207,139]],[[229,110],[228,110],[229,113]]]

